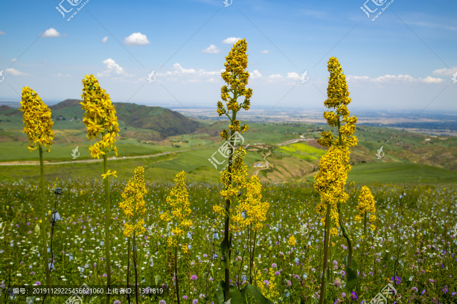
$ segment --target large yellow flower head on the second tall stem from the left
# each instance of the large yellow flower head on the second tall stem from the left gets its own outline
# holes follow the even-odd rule
[[[119,123],[110,95],[100,87],[99,81],[92,74],[85,75],[82,84],[84,88],[80,104],[85,111],[83,123],[87,128],[87,138],[100,139],[99,142],[90,145],[90,156],[99,159],[108,149],[114,151],[117,156],[115,142],[119,136]]]

